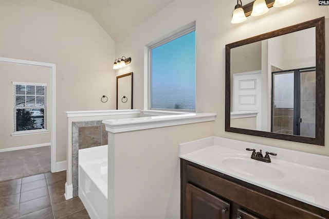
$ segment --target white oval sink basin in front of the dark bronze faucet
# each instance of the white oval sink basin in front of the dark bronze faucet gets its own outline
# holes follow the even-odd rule
[[[225,168],[247,176],[280,179],[284,175],[281,171],[271,167],[272,163],[265,163],[251,158],[229,157],[223,159]]]

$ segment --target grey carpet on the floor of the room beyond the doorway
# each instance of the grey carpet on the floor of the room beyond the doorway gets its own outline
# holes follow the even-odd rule
[[[50,146],[0,153],[0,181],[50,172]]]

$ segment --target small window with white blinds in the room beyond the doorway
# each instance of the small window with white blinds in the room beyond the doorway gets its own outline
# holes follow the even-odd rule
[[[14,134],[47,131],[47,85],[13,82]]]

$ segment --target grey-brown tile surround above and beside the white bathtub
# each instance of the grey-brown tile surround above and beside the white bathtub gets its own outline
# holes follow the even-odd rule
[[[78,196],[79,149],[107,144],[107,131],[101,120],[72,122],[72,187]]]

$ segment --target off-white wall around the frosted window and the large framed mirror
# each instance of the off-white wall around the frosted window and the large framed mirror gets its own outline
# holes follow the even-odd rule
[[[251,36],[295,25],[321,16],[328,17],[328,7],[318,6],[317,1],[295,0],[284,8],[271,8],[263,16],[247,18],[242,24],[230,23],[234,1],[176,0],[145,21],[126,38],[116,42],[116,54],[127,54],[133,61],[129,65],[134,71],[134,107],[142,108],[144,101],[145,45],[168,33],[196,21],[196,111],[217,113],[215,135],[275,147],[329,155],[329,139],[326,147],[268,139],[225,132],[225,45]],[[326,20],[326,23],[328,21]],[[329,27],[326,24],[326,39]],[[326,51],[329,51],[327,43]],[[328,56],[327,56],[328,57]],[[327,58],[328,59],[328,58]],[[207,63],[207,64],[205,64]],[[329,68],[326,68],[327,72]],[[129,72],[117,71],[117,75]],[[326,79],[328,86],[329,78]],[[326,91],[326,102],[329,101]],[[326,109],[325,126],[328,129],[329,108]]]

